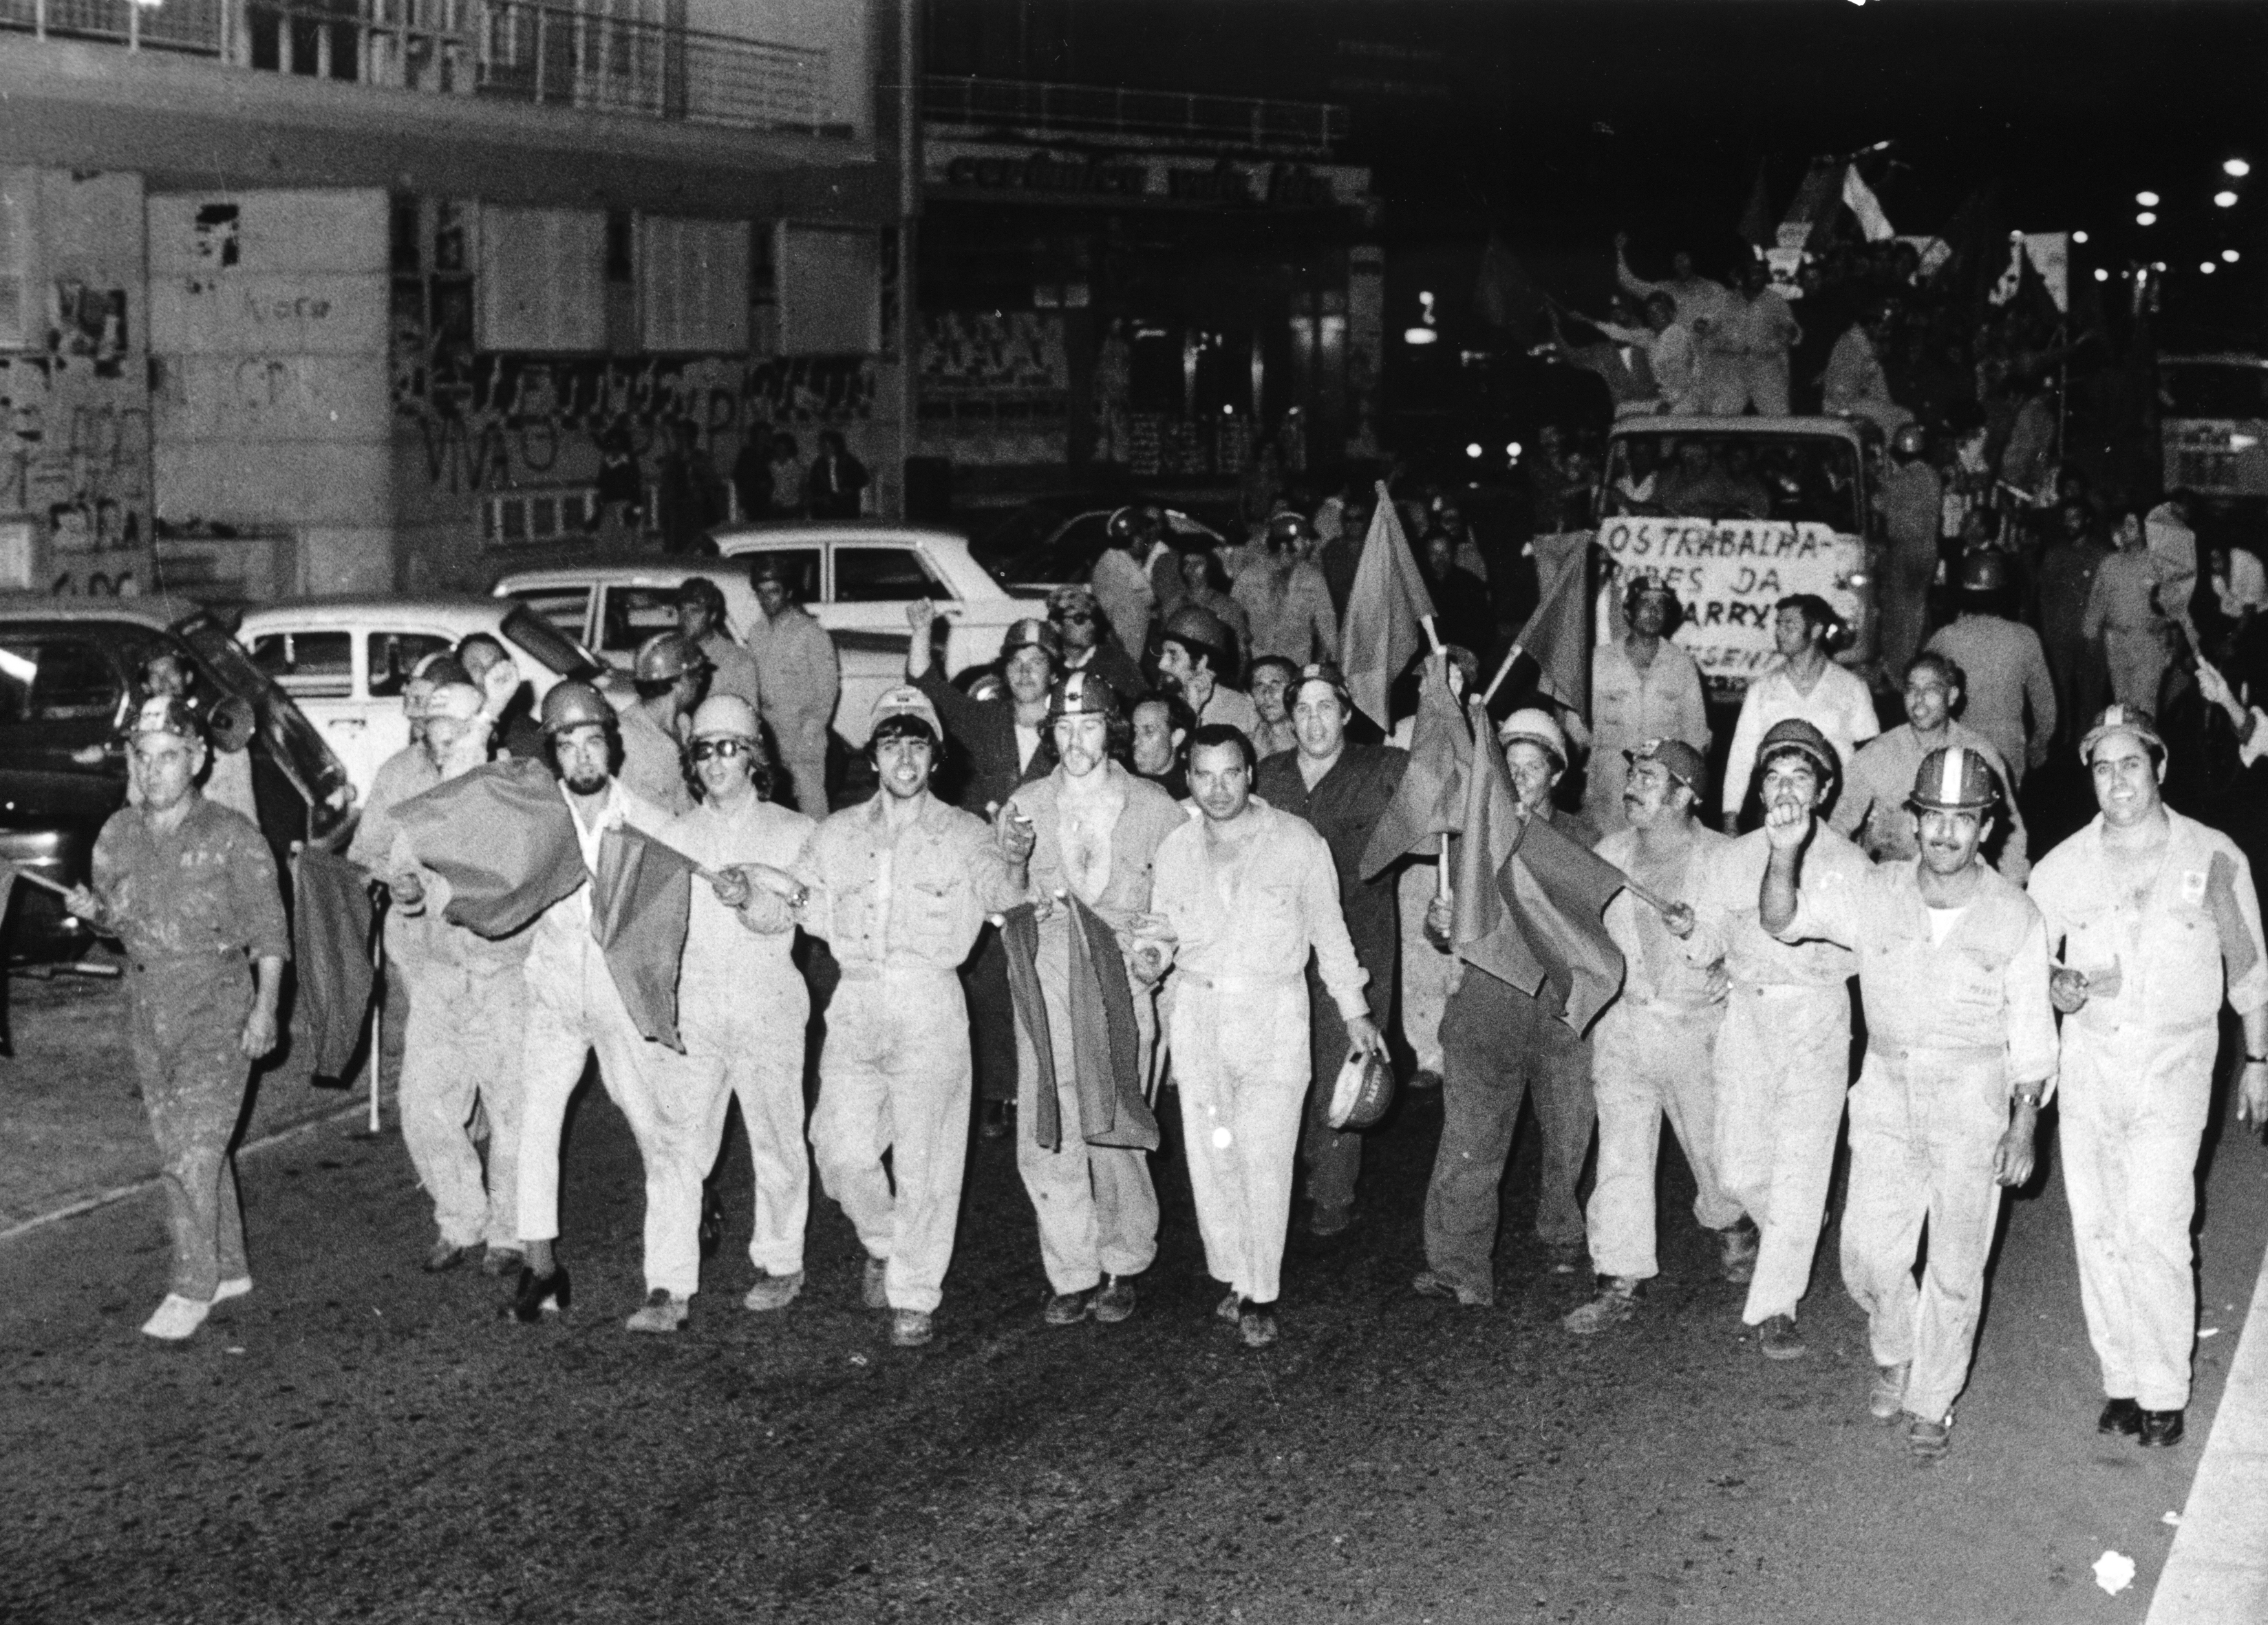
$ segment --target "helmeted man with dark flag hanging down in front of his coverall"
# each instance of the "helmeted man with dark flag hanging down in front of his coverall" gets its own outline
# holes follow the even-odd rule
[[[1157,1190],[1145,1154],[1089,1145],[1082,1133],[1080,1045],[1070,1009],[1075,927],[1066,893],[1111,927],[1132,981],[1134,925],[1150,909],[1150,866],[1159,843],[1186,823],[1166,791],[1111,759],[1120,718],[1118,696],[1102,678],[1075,671],[1057,682],[1048,700],[1057,766],[1009,802],[1034,841],[1030,877],[1039,904],[1039,990],[1061,1124],[1052,1149],[1039,1142],[1039,1052],[1032,1033],[1016,1022],[1016,1115],[1023,1122],[1016,1172],[1039,1210],[1048,1326],[1075,1326],[1086,1315],[1123,1321],[1134,1312],[1134,1276],[1157,1258]],[[1132,986],[1141,1077],[1148,1079],[1157,1011],[1150,988]]]

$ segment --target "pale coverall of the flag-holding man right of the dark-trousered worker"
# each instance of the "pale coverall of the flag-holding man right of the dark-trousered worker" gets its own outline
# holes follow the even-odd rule
[[[1599,857],[1672,902],[1692,902],[1710,854],[1726,845],[1730,841],[1721,834],[1696,825],[1681,866],[1640,873],[1637,832],[1617,829],[1599,843]],[[1662,916],[1628,891],[1606,904],[1606,934],[1622,950],[1626,970],[1622,997],[1606,1006],[1590,1033],[1599,1172],[1583,1217],[1592,1269],[1651,1281],[1660,1274],[1653,1176],[1665,1115],[1694,1172],[1694,1219],[1706,1231],[1740,1219],[1740,1203],[1717,1181],[1717,1079],[1710,1061],[1724,995],[1710,986],[1708,968],[1685,961],[1683,945],[1662,929]]]

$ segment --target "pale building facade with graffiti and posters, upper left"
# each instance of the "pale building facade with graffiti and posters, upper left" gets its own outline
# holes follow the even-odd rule
[[[826,428],[889,510],[907,16],[0,0],[0,587],[479,589]]]

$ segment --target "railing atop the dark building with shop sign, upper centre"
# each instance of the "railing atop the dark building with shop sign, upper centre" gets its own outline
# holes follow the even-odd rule
[[[1118,91],[1107,84],[1030,79],[921,82],[921,113],[943,125],[1107,136],[1161,136],[1202,145],[1325,156],[1347,138],[1347,109],[1327,102],[1263,102],[1245,95]]]

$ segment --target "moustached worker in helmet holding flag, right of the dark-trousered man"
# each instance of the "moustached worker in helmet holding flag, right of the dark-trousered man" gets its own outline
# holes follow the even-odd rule
[[[1683,739],[1649,739],[1628,752],[1624,825],[1599,857],[1672,904],[1692,929],[1692,900],[1710,859],[1726,845],[1699,820],[1708,762]],[[1694,1219],[1706,1231],[1740,1222],[1740,1203],[1717,1183],[1717,1083],[1710,1056],[1724,1022],[1724,965],[1692,965],[1678,938],[1631,891],[1606,904],[1606,931],[1622,950],[1622,997],[1592,1029],[1592,1088],[1599,1097],[1599,1172],[1585,1228],[1599,1296],[1563,1326],[1599,1333],[1631,1319],[1644,1283],[1660,1274],[1653,1253],[1653,1174],[1662,1117],[1676,1129],[1694,1172]]]

